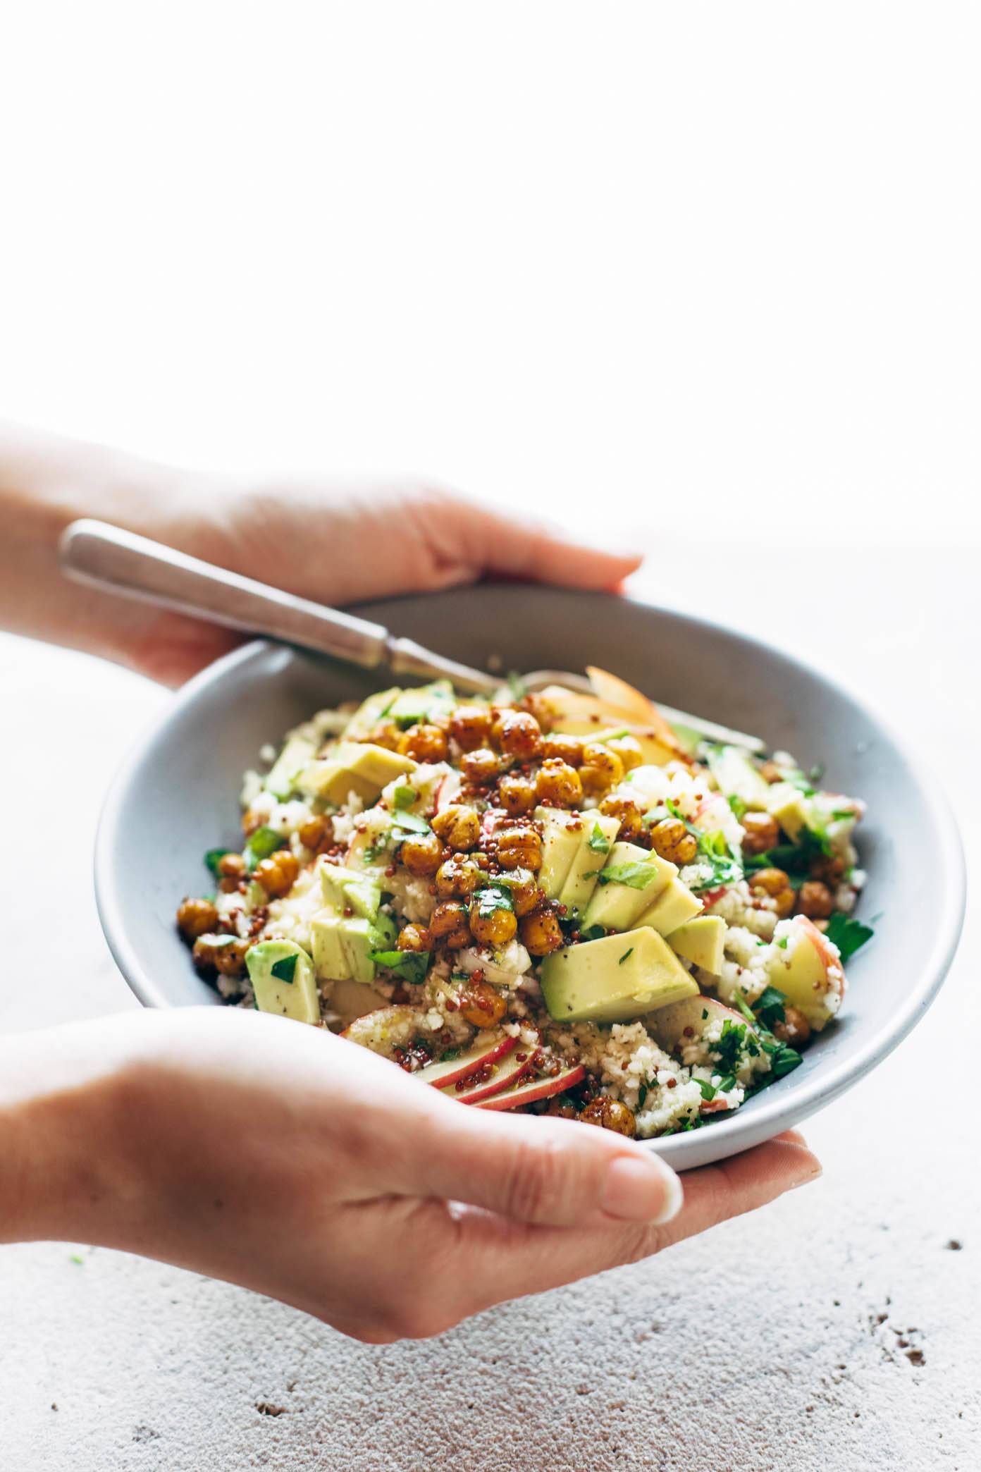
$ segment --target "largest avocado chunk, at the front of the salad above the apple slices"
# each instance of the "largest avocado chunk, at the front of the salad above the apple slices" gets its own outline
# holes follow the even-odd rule
[[[697,991],[650,929],[569,945],[541,964],[541,995],[556,1022],[625,1022]]]

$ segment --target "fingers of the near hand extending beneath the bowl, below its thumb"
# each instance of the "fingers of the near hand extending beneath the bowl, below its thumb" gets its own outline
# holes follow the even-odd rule
[[[466,1262],[466,1275],[460,1278],[466,1282],[468,1306],[460,1317],[506,1298],[638,1262],[719,1222],[755,1211],[819,1175],[821,1166],[807,1147],[781,1136],[722,1164],[687,1172],[684,1207],[665,1225],[560,1229],[463,1211],[457,1217],[456,1250]]]

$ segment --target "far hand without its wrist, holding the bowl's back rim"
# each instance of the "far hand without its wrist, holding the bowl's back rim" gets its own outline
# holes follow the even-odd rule
[[[497,576],[616,589],[640,565],[541,526],[419,483],[201,484],[122,503],[125,524],[194,556],[316,602],[353,604]],[[107,520],[119,521],[119,515]],[[88,593],[100,652],[179,684],[237,643],[235,634],[112,595]],[[397,631],[397,630],[396,630]]]

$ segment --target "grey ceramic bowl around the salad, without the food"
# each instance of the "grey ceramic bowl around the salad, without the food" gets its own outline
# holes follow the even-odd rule
[[[675,1169],[746,1150],[799,1125],[881,1061],[932,1001],[960,935],[957,832],[935,783],[853,695],[816,670],[716,624],[606,595],[487,584],[362,609],[402,634],[487,665],[615,670],[666,705],[762,735],[865,798],[860,916],[875,939],[849,964],[840,1022],[803,1064],[729,1119],[652,1142]],[[218,1004],[174,926],[199,892],[206,849],[234,846],[240,774],[265,742],[312,711],[360,698],[378,677],[265,642],[219,659],[176,696],[118,776],[99,832],[96,889],[124,976],[151,1007]],[[930,866],[921,861],[931,855]]]

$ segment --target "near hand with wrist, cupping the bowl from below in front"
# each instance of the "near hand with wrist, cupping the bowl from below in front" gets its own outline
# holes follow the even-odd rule
[[[137,1013],[16,1041],[0,1058],[0,1203],[16,1201],[7,1170],[22,1209],[0,1236],[178,1263],[372,1344],[635,1262],[819,1175],[782,1135],[687,1175],[682,1204],[634,1141],[457,1104],[260,1013]]]

